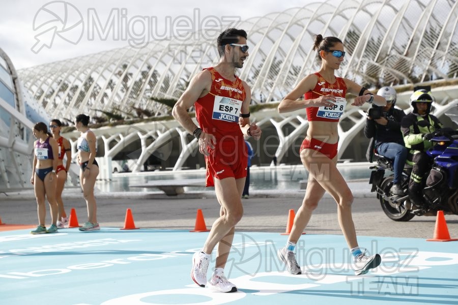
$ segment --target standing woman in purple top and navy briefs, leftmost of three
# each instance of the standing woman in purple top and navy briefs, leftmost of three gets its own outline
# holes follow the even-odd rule
[[[32,234],[55,233],[58,206],[55,201],[55,171],[57,168],[58,144],[48,133],[48,127],[43,122],[37,123],[33,129],[34,137],[34,162],[30,182],[34,185],[37,199],[38,227],[31,231]],[[46,230],[45,197],[48,199],[51,210],[51,226]]]

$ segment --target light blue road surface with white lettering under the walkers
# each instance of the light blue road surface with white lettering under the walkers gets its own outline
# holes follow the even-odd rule
[[[458,241],[360,236],[360,246],[380,253],[382,264],[354,276],[343,236],[306,234],[296,247],[303,274],[292,276],[276,257],[285,236],[236,232],[225,275],[239,291],[220,293],[189,276],[208,233],[29,232],[0,232],[1,304],[458,303]],[[208,277],[212,267],[214,256]]]

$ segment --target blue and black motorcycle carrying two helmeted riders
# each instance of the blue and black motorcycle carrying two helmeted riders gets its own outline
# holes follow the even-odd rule
[[[449,115],[458,124],[458,115]],[[425,175],[426,185],[422,190],[423,204],[414,205],[407,192],[412,167],[406,165],[401,186],[402,196],[390,192],[394,174],[385,176],[385,171],[393,172],[393,160],[375,154],[377,165],[369,167],[371,192],[377,193],[386,216],[394,221],[409,221],[415,216],[436,216],[438,210],[444,214],[458,215],[458,133],[451,129],[437,131],[433,146],[426,151],[433,158],[433,166]]]

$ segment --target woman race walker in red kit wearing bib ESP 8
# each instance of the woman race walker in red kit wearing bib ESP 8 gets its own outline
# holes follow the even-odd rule
[[[379,254],[367,256],[358,247],[352,219],[352,191],[336,167],[339,139],[337,125],[347,106],[347,93],[357,96],[352,103],[354,106],[364,103],[385,106],[386,101],[355,82],[334,75],[345,56],[344,45],[338,38],[316,35],[313,50],[318,51],[322,61],[320,71],[302,79],[278,105],[280,113],[306,108],[309,127],[300,147],[300,156],[309,172],[309,178],[305,197],[297,211],[287,245],[278,250],[277,254],[290,273],[301,273],[293,251],[313,210],[324,193],[328,192],[337,203],[337,218],[354,258],[355,274],[363,275],[369,269],[377,267],[381,263],[381,257]],[[304,100],[298,100],[302,95]]]

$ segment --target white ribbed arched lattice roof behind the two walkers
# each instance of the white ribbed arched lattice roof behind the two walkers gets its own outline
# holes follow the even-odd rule
[[[281,100],[319,68],[312,44],[322,34],[344,41],[339,76],[367,87],[456,78],[457,20],[454,0],[328,0],[251,18],[235,25],[250,45],[240,77],[252,88],[252,103]],[[192,76],[218,60],[216,37],[196,37],[23,69],[19,77],[52,117],[137,117],[141,109],[167,115],[170,108],[151,98],[178,99]]]

